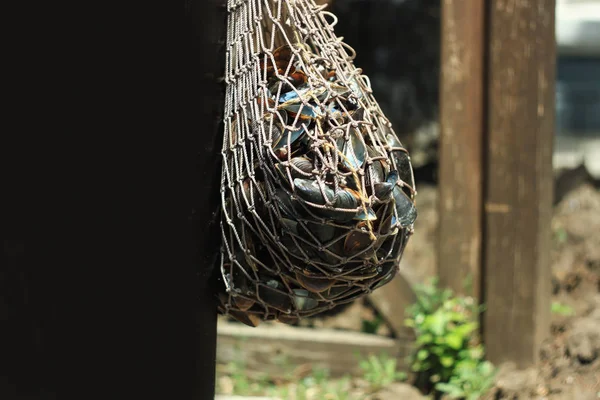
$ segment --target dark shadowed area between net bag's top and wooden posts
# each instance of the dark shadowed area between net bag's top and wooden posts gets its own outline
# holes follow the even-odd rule
[[[332,0],[330,10],[401,139],[437,120],[440,1]]]

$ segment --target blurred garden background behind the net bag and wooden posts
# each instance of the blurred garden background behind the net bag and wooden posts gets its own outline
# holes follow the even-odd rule
[[[440,317],[444,304],[460,311],[455,318],[478,315],[473,299],[437,289],[434,279],[440,1],[328,3],[339,18],[337,35],[356,50],[355,65],[369,76],[381,108],[410,151],[418,190],[415,235],[400,265],[402,276],[381,293],[298,327],[265,323],[247,328],[221,318],[217,392],[222,399],[417,399],[428,392],[439,398],[443,393],[432,391],[431,374],[424,373],[434,368],[425,365],[429,353],[416,354],[411,347],[412,327],[431,315]],[[453,360],[440,358],[436,371],[441,372],[433,381],[448,380],[443,374],[459,358],[477,363],[476,376],[456,378],[453,387],[446,387],[446,396],[600,398],[600,1],[556,3],[552,337],[540,365],[516,371],[483,363],[475,354],[480,350],[476,335],[462,332],[461,344],[446,349],[455,351]],[[596,336],[590,335],[595,339],[585,342],[588,347],[570,339],[594,331]],[[449,335],[457,333],[433,329],[431,335],[451,343]],[[441,345],[427,347],[419,338],[417,343],[428,352],[446,351]],[[467,386],[470,393],[464,391]]]

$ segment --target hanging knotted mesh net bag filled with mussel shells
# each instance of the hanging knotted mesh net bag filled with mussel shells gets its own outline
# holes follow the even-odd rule
[[[409,155],[313,0],[229,0],[219,312],[295,323],[388,283]]]

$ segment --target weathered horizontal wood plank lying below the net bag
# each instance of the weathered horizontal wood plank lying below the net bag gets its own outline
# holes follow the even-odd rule
[[[404,358],[412,341],[394,340],[358,332],[310,329],[264,324],[256,328],[219,321],[217,362],[242,361],[248,373],[267,373],[284,377],[301,366],[329,368],[332,376],[359,374],[356,353],[386,353],[398,358],[406,370]]]

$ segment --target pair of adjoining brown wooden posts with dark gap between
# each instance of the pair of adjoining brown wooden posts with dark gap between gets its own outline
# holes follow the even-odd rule
[[[439,275],[485,303],[491,361],[549,332],[555,2],[444,0]]]

